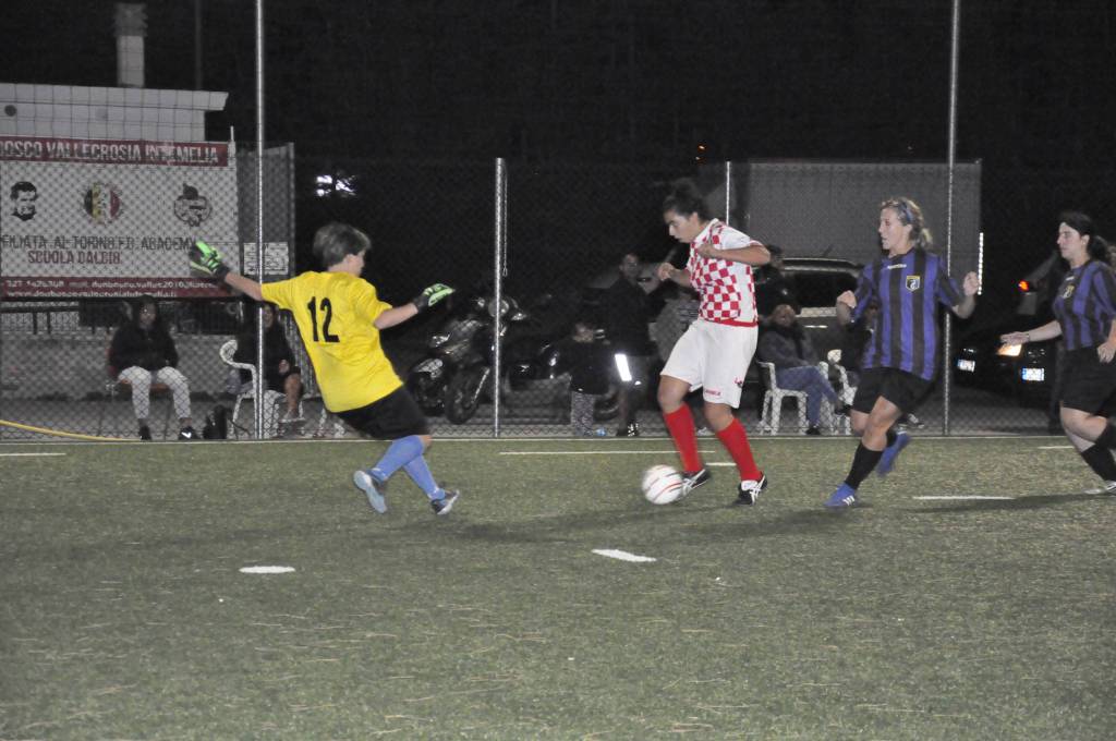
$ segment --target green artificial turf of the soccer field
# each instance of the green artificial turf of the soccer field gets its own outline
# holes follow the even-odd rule
[[[715,441],[663,507],[666,440],[440,441],[446,518],[368,508],[383,443],[3,445],[0,739],[1112,739],[1064,442],[920,437],[828,511],[852,439],[757,441],[754,508]]]

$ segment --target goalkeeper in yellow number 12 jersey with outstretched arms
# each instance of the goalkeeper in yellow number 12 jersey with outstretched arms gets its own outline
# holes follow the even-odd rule
[[[434,306],[453,289],[435,283],[403,306],[381,301],[376,289],[360,278],[371,247],[359,229],[330,223],[314,235],[314,254],[324,272],[259,283],[230,270],[220,252],[201,241],[190,249],[190,267],[294,314],[326,408],[360,432],[392,441],[375,465],[353,474],[374,510],[387,510],[384,484],[403,469],[426,492],[434,512],[446,514],[459,492],[434,482],[423,458],[431,442],[430,425],[384,355],[379,333]]]

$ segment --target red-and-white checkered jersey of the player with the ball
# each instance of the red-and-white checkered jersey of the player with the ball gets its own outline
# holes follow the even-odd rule
[[[752,267],[715,258],[705,259],[696,248],[709,242],[715,250],[735,250],[754,240],[713,219],[690,244],[690,285],[701,295],[699,316],[719,324],[752,324],[756,314],[756,279]]]

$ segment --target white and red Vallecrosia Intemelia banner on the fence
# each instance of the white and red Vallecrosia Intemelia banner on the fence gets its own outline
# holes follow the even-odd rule
[[[204,239],[240,267],[234,145],[0,137],[0,295],[227,296],[190,276]]]

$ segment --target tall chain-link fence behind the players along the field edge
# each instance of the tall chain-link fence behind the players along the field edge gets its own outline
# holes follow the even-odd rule
[[[25,142],[40,148],[28,154],[8,146],[0,158],[8,198],[0,213],[0,418],[17,425],[0,427],[0,436],[23,440],[46,429],[135,437],[142,426],[154,439],[174,439],[186,426],[198,434],[222,426],[229,435],[254,433],[257,389],[244,383],[247,368],[232,365],[254,362],[254,347],[232,356],[254,344],[246,326],[259,309],[191,278],[185,259],[192,240],[204,239],[234,267],[259,273],[254,156],[231,144]],[[641,434],[665,434],[655,402],[657,371],[696,308],[692,296],[655,289],[652,278],[660,261],[685,259],[660,212],[676,173],[510,163],[501,191],[492,162],[356,161],[340,173],[279,147],[268,151],[266,165],[266,280],[316,268],[309,251],[315,229],[340,220],[373,237],[366,277],[385,300],[405,302],[433,281],[458,287],[445,306],[384,334],[435,434],[614,435],[627,433],[629,422]],[[950,247],[960,280],[968,270],[987,272],[981,224],[990,199],[982,195],[979,164],[959,165],[954,176]],[[814,340],[811,359],[829,362],[838,392],[845,389],[838,365],[853,366],[855,343],[836,325],[833,306],[878,250],[879,201],[894,194],[921,201],[937,249],[946,247],[942,165],[735,163],[702,169],[696,179],[718,216],[728,213],[733,225],[782,248],[787,302]],[[632,331],[613,295],[623,288],[616,281],[624,280],[625,260],[636,263],[632,280],[646,293],[641,310],[654,344],[617,341]],[[1017,273],[1012,283],[1036,267],[1001,264]],[[761,285],[770,278],[762,273]],[[1012,355],[1000,348],[997,333],[1017,318],[1017,298],[1030,301],[1033,312],[1019,317],[1018,326],[1040,324],[1048,300],[1039,293],[1050,280],[1036,276],[1039,291],[1027,297],[998,286],[1008,293],[1000,299],[1003,316],[954,321],[953,345],[941,359],[949,372],[939,374],[906,424],[940,433],[947,417],[951,433],[1045,432],[1055,348]],[[142,324],[141,295],[154,297],[165,340],[152,340]],[[264,374],[263,434],[345,434],[323,413],[294,324],[280,317],[279,326],[301,383],[291,394],[283,378]],[[129,349],[129,341],[138,347]],[[132,367],[150,377],[125,373]],[[176,373],[161,373],[166,367]],[[586,381],[587,367],[598,383]],[[798,400],[764,406],[780,389],[758,365],[744,392],[739,414],[750,431],[804,432]],[[583,405],[578,417],[576,403],[586,396],[593,406],[586,417]],[[836,417],[827,422],[827,434],[847,431]]]

